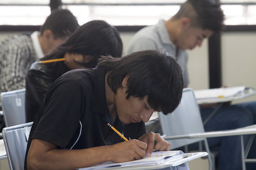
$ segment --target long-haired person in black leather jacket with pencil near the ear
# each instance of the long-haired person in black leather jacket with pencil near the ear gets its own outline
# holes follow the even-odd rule
[[[40,61],[65,58],[65,61],[36,61],[26,76],[26,121],[33,121],[50,86],[63,73],[75,68],[94,68],[101,55],[121,57],[123,43],[115,27],[105,21],[89,21],[80,26],[65,43]]]

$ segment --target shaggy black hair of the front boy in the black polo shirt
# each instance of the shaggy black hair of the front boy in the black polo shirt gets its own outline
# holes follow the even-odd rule
[[[149,105],[154,110],[162,110],[165,115],[175,110],[181,101],[181,67],[163,50],[138,51],[119,59],[102,56],[98,67],[110,71],[107,82],[114,93],[128,76],[126,98],[148,96]]]

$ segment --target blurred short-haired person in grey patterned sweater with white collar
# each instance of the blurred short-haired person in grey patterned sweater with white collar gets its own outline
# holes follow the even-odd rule
[[[47,17],[40,32],[6,38],[0,45],[0,93],[25,88],[31,64],[64,43],[78,26],[69,10],[57,9]]]

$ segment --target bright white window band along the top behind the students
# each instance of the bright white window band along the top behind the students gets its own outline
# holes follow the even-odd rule
[[[104,20],[115,26],[147,26],[172,17],[185,0],[62,0],[82,25]],[[42,25],[50,0],[1,0],[0,25]],[[256,25],[256,0],[221,0],[225,25]]]

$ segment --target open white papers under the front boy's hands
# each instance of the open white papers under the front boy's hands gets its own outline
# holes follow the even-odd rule
[[[102,164],[96,166],[90,166],[86,168],[81,168],[79,170],[95,170],[95,169],[103,169],[103,168],[114,168],[114,167],[135,167],[135,166],[155,166],[162,164],[168,164],[170,166],[178,166],[182,163],[187,161],[193,160],[198,157],[203,157],[208,155],[206,152],[199,152],[199,153],[183,153],[181,150],[174,150],[174,151],[154,151],[150,157],[145,157],[143,159],[135,160],[135,161],[128,161],[128,162],[121,162],[121,163],[114,163],[114,162],[104,162]]]

